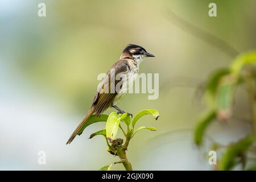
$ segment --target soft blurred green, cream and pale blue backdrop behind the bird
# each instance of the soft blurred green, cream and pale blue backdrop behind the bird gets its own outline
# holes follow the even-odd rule
[[[38,16],[38,3],[47,16]],[[217,17],[208,16],[210,2]],[[154,53],[140,72],[159,73],[159,98],[129,94],[119,106],[137,113],[157,109],[131,140],[127,156],[134,169],[209,170],[207,148],[197,148],[193,129],[204,102],[200,84],[233,58],[172,23],[168,10],[237,49],[256,47],[256,1],[18,1],[0,0],[0,169],[97,170],[117,160],[106,152],[102,137],[87,139],[104,128],[96,123],[71,145],[65,142],[89,110],[98,85],[128,43]],[[197,92],[199,90],[199,92]],[[243,90],[238,90],[235,117],[216,122],[208,131],[227,143],[243,137],[249,126]],[[109,109],[106,114],[114,111]],[[46,152],[46,165],[38,152]],[[113,169],[123,169],[117,164]]]

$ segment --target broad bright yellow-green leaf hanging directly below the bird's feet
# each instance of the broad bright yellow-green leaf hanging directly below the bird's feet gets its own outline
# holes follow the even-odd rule
[[[106,137],[108,139],[114,139],[117,136],[120,121],[121,118],[117,113],[109,114],[108,121],[106,122]]]

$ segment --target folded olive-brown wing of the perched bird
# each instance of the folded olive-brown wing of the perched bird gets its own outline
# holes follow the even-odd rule
[[[115,74],[111,74],[113,72]],[[130,67],[126,61],[120,60],[115,63],[110,71],[106,74],[104,80],[101,83],[100,88],[98,88],[96,95],[93,100],[93,107],[95,109],[95,114],[100,115],[103,113],[110,105],[113,104],[114,98],[117,95],[117,90],[115,86],[119,83],[122,85],[122,79],[116,80],[115,76],[119,73],[127,73],[130,71]],[[121,86],[120,86],[121,88]]]

